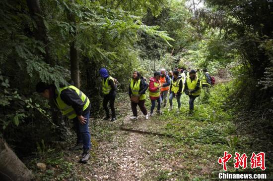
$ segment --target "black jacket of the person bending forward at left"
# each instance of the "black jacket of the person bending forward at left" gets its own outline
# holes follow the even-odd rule
[[[55,100],[55,102],[57,102],[56,98],[58,95],[55,93],[55,90],[56,90],[56,88],[53,90],[54,100]],[[67,105],[72,106],[76,115],[78,115],[78,116],[85,115],[86,113],[88,113],[90,111],[91,103],[83,111],[84,102],[81,100],[81,98],[79,97],[79,95],[77,94],[77,92],[75,90],[65,89],[61,92],[60,96],[61,96],[61,99]]]

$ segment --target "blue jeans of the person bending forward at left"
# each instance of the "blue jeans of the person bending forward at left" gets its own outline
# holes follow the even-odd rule
[[[77,134],[77,143],[83,143],[83,150],[89,150],[91,148],[91,136],[89,133],[89,115],[90,112],[86,113],[85,115],[82,115],[84,118],[86,118],[86,124],[82,125],[78,118],[75,117],[73,119],[73,123],[76,129]]]

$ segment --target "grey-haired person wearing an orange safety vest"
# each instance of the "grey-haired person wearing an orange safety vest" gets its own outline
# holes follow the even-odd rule
[[[168,96],[168,92],[169,92],[169,89],[170,89],[171,79],[170,79],[169,75],[166,74],[165,69],[162,68],[160,70],[160,73],[161,73],[161,76],[160,76],[161,100],[162,100],[162,102],[164,100],[163,107],[166,107],[166,105],[167,105],[167,96]]]

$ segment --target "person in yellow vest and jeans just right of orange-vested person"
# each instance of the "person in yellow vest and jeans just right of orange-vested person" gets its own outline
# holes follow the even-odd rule
[[[169,97],[169,102],[170,102],[170,109],[173,109],[173,98],[176,97],[177,104],[178,104],[178,111],[180,110],[181,107],[181,102],[180,102],[180,97],[182,95],[183,91],[183,80],[181,76],[179,76],[179,72],[177,70],[173,71],[173,79],[171,81],[171,86],[170,86],[170,97]]]

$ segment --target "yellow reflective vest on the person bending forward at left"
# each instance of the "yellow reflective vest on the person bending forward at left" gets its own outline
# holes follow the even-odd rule
[[[76,88],[75,86],[68,86],[68,87],[60,88],[59,90],[57,90],[57,89],[55,90],[55,93],[57,95],[55,104],[61,110],[61,112],[64,116],[67,116],[69,119],[73,119],[77,116],[75,113],[75,110],[72,108],[72,106],[67,105],[61,99],[61,92],[66,89],[72,89],[72,90],[76,91],[76,93],[78,94],[78,96],[80,97],[82,102],[85,103],[83,106],[83,111],[89,106],[90,101],[89,101],[88,97],[82,91],[80,91],[78,88]]]

